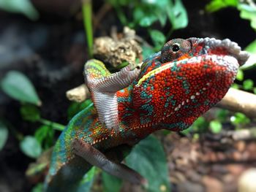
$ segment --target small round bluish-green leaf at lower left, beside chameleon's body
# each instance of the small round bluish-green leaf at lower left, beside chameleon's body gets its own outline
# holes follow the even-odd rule
[[[35,137],[26,136],[20,142],[20,150],[30,158],[38,158],[42,153],[42,148]]]

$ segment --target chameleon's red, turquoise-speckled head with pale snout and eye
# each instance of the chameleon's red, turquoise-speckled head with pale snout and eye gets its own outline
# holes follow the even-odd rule
[[[249,55],[229,39],[173,39],[144,61],[135,82],[140,123],[173,131],[188,128],[217,104]]]

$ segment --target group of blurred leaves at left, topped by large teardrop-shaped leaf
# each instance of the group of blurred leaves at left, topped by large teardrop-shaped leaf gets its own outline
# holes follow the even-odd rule
[[[20,115],[23,120],[43,124],[35,131],[34,136],[23,136],[19,130],[12,128],[14,133],[18,133],[16,137],[20,141],[20,150],[30,158],[39,157],[42,149],[48,149],[53,145],[54,129],[63,131],[64,126],[41,118],[38,108],[41,101],[34,85],[25,74],[17,71],[7,72],[1,80],[1,90],[13,99],[20,101]],[[0,123],[0,131],[1,150],[8,137],[8,129],[3,123]]]

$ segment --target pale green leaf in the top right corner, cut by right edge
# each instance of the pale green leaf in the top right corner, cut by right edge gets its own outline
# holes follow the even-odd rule
[[[256,30],[256,7],[249,4],[239,4],[240,17],[251,21],[251,27]]]

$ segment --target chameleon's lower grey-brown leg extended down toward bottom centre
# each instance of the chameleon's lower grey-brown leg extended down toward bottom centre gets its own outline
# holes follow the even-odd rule
[[[138,174],[138,172],[135,172],[135,170],[130,169],[124,164],[111,161],[99,150],[82,140],[75,139],[73,142],[73,148],[76,155],[79,155],[89,162],[89,164],[97,166],[109,174],[124,180],[129,180],[129,182],[134,184],[146,185],[147,183],[146,179]]]

